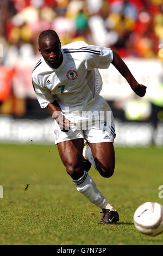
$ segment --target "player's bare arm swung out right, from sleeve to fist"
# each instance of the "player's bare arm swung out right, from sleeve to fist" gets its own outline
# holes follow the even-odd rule
[[[129,83],[130,87],[133,89],[133,91],[139,95],[140,97],[145,96],[146,94],[146,86],[143,86],[143,84],[139,84],[134,76],[131,74],[130,70],[128,69],[127,65],[123,62],[121,57],[118,53],[112,51],[113,53],[113,60],[112,64],[115,66],[115,68],[120,72],[120,74],[126,78],[127,82]]]

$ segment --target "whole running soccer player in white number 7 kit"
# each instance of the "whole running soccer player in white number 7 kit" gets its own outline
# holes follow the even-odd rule
[[[146,86],[135,80],[110,48],[83,41],[61,48],[57,33],[47,30],[39,35],[39,52],[42,57],[33,70],[33,87],[41,108],[47,107],[54,118],[61,161],[77,190],[102,209],[98,224],[117,222],[118,212],[87,173],[93,164],[99,174],[109,178],[115,168],[114,118],[99,95],[102,78],[98,68],[107,69],[112,63],[140,97],[145,95]]]

